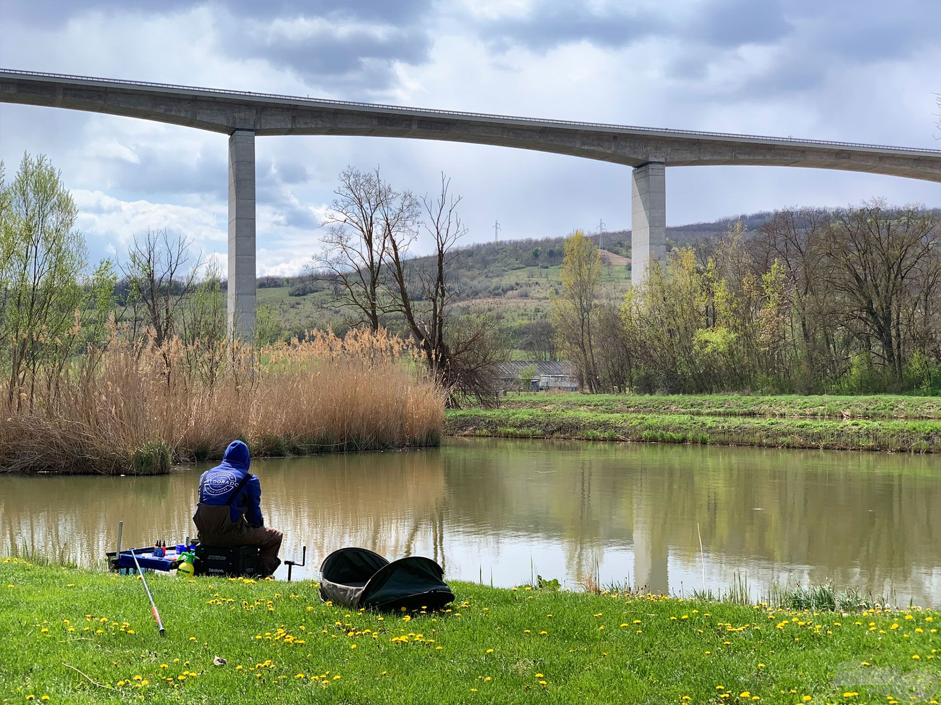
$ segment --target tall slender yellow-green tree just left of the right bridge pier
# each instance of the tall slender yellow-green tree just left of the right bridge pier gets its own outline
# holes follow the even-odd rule
[[[600,391],[595,359],[594,326],[598,318],[601,253],[598,245],[576,230],[565,240],[562,289],[553,300],[552,323],[559,347],[575,362],[588,391]]]

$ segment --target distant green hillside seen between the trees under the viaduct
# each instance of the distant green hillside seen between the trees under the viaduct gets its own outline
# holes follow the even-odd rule
[[[773,213],[742,215],[742,224],[758,229]],[[694,244],[726,232],[739,216],[710,223],[667,227],[667,247]],[[596,242],[598,235],[595,234]],[[565,236],[513,240],[501,243],[474,243],[455,253],[453,286],[456,301],[469,312],[493,312],[511,328],[527,321],[541,321],[550,309],[550,298],[561,283],[559,267],[564,256]],[[603,281],[605,295],[620,299],[630,286],[630,230],[603,234]],[[418,269],[431,264],[431,258],[412,260]],[[311,327],[332,325],[343,330],[347,314],[334,305],[336,293],[329,281],[311,276],[262,277],[260,304],[278,308],[285,330],[301,333]]]

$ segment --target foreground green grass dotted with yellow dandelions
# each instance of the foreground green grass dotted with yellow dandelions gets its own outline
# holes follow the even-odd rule
[[[886,702],[862,681],[891,672],[892,695],[909,702],[899,678],[941,683],[930,610],[792,613],[455,583],[450,612],[382,616],[323,604],[310,582],[149,582],[164,637],[134,577],[0,564],[0,699]]]

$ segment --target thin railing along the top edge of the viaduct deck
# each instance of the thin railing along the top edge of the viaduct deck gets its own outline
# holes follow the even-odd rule
[[[788,142],[794,144],[803,144],[803,145],[812,145],[812,146],[821,146],[821,147],[854,147],[861,149],[892,149],[899,151],[908,151],[908,152],[929,152],[941,154],[941,149],[925,149],[925,148],[910,148],[910,147],[891,147],[888,145],[870,145],[861,142],[836,142],[833,140],[822,140],[822,139],[801,139],[799,137],[773,137],[764,134],[737,134],[737,133],[713,133],[713,132],[703,132],[699,130],[676,130],[674,128],[668,127],[639,127],[635,125],[615,125],[612,123],[606,122],[582,122],[579,120],[557,120],[551,118],[521,118],[518,116],[512,115],[499,115],[491,113],[472,113],[464,110],[435,110],[433,108],[415,108],[408,107],[405,105],[387,105],[384,103],[378,102],[357,102],[357,101],[331,101],[324,98],[310,98],[302,96],[288,96],[282,95],[279,93],[259,93],[250,90],[229,90],[225,88],[207,88],[203,86],[180,86],[177,84],[160,84],[154,83],[152,81],[125,81],[117,80],[112,78],[99,78],[96,76],[76,76],[69,73],[50,73],[47,71],[9,71],[5,69],[0,69],[0,73],[13,73],[23,76],[45,76],[49,78],[64,78],[72,81],[95,81],[98,83],[104,84],[116,84],[119,86],[149,86],[155,88],[171,88],[174,90],[192,90],[192,91],[201,91],[205,93],[216,93],[219,95],[233,95],[233,96],[248,96],[251,98],[275,98],[281,101],[295,101],[295,102],[310,102],[317,105],[325,106],[349,106],[349,107],[359,107],[359,108],[380,108],[382,110],[390,110],[393,112],[402,112],[402,113],[422,113],[425,115],[435,115],[439,117],[447,116],[460,116],[462,118],[484,118],[487,120],[512,120],[515,122],[526,122],[526,123],[546,123],[550,125],[559,125],[560,127],[591,127],[591,128],[601,128],[605,130],[630,130],[635,132],[645,132],[645,133],[662,133],[662,134],[671,134],[671,135],[692,135],[692,136],[702,136],[702,137],[721,137],[726,139],[738,139],[738,140],[761,140],[769,142]]]

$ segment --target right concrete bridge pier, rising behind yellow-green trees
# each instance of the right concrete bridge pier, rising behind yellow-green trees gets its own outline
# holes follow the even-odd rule
[[[652,262],[666,266],[666,168],[635,166],[630,176],[630,284],[646,280]]]

